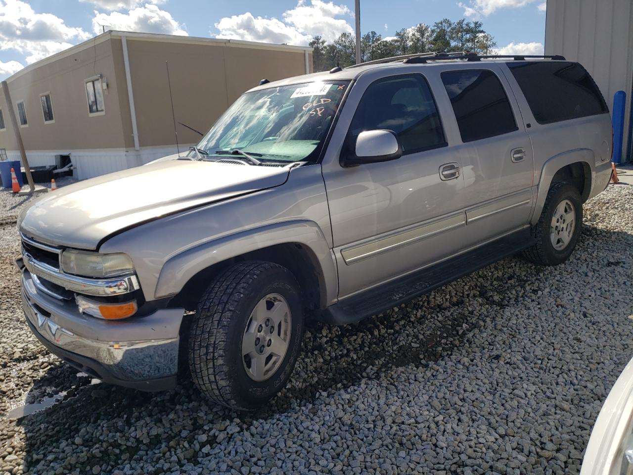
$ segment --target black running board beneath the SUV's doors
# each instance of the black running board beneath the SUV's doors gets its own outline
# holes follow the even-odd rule
[[[377,315],[413,298],[429,293],[455,279],[511,256],[535,243],[530,229],[514,232],[479,248],[450,258],[412,274],[340,300],[317,318],[334,325],[346,325]]]

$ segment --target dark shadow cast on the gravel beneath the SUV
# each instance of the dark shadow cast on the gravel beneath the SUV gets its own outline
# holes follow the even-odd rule
[[[582,248],[587,239],[623,242],[621,235],[630,239],[627,233],[586,226],[579,246]],[[601,263],[603,272],[624,265],[621,260],[601,258],[605,261]],[[413,365],[418,371],[425,371],[438,360],[448,358],[474,331],[491,324],[496,327],[498,322],[491,323],[490,315],[496,314],[501,320],[503,309],[514,305],[515,300],[526,293],[547,291],[556,284],[551,277],[542,276],[545,270],[518,258],[491,267],[499,265],[509,271],[520,268],[521,272],[483,269],[358,324],[329,327],[314,320],[308,322],[303,352],[289,386],[259,411],[256,419],[272,419],[298,405],[313,403],[320,391],[344,390],[362,379],[379,378],[395,367]],[[487,312],[473,317],[468,309],[475,304],[484,306]],[[471,350],[490,361],[504,357],[482,348]],[[68,391],[61,402],[16,421],[24,430],[25,463],[33,472],[47,467],[47,454],[63,451],[67,445],[84,449],[79,455],[76,449],[72,450],[72,457],[69,455],[64,465],[66,469],[81,467],[78,472],[85,473],[90,467],[103,464],[114,469],[140,460],[147,451],[174,440],[194,446],[196,433],[208,433],[210,424],[221,424],[223,428],[205,443],[214,447],[216,437],[230,423],[248,428],[255,419],[250,414],[236,414],[208,404],[188,380],[175,390],[149,394],[91,384],[90,378],[77,376],[77,370],[61,362],[34,383],[27,402],[37,402],[60,391]],[[161,431],[139,433],[137,428],[144,419],[160,426]],[[96,428],[100,433],[93,433]]]

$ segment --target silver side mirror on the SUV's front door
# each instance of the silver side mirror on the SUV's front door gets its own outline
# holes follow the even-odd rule
[[[402,156],[402,146],[392,130],[365,130],[356,137],[352,153],[342,160],[343,167],[356,167],[363,163],[389,162]]]

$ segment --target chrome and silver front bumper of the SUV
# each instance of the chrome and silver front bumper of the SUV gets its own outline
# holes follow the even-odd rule
[[[74,300],[38,290],[22,269],[27,323],[51,353],[105,383],[142,391],[173,388],[178,372],[182,308],[165,308],[127,320],[82,315]]]

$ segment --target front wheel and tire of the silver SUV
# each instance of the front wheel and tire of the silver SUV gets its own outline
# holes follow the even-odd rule
[[[303,306],[292,273],[247,261],[225,270],[198,303],[189,367],[211,400],[253,410],[284,388],[301,350]]]

